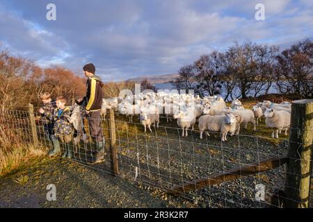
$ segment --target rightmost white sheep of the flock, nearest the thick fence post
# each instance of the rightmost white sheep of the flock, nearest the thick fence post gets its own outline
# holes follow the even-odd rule
[[[287,130],[290,126],[291,114],[284,110],[266,109],[264,112],[265,123],[269,128],[273,128],[272,137],[278,139],[278,132],[284,130],[284,135],[287,135]]]

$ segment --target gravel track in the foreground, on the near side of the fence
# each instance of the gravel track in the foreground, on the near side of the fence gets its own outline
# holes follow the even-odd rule
[[[19,176],[29,180],[21,185]],[[46,200],[49,184],[56,201]],[[182,198],[60,158],[37,160],[0,178],[0,207],[195,207]]]

